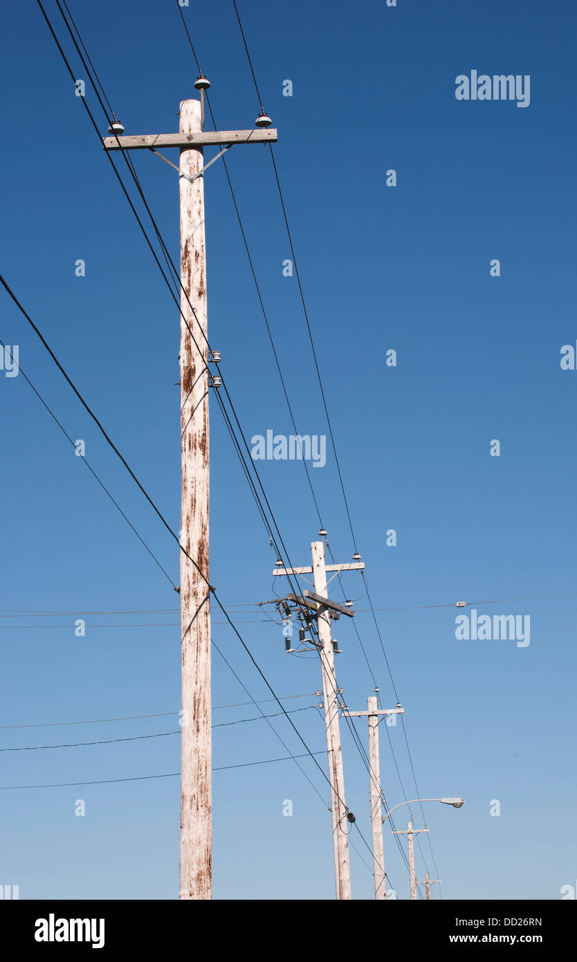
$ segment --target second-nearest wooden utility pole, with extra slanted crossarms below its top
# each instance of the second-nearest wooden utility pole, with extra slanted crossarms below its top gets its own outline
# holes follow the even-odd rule
[[[325,565],[324,536],[326,531],[319,532],[323,540],[311,544],[313,566],[311,568],[276,568],[274,575],[313,574],[314,592],[305,591],[303,595],[288,595],[289,601],[294,601],[302,607],[313,609],[318,625],[318,651],[320,654],[320,669],[322,675],[322,696],[325,718],[325,733],[327,739],[327,754],[329,762],[329,781],[331,784],[331,818],[333,823],[333,847],[335,852],[335,887],[337,899],[351,898],[351,870],[348,852],[347,812],[344,802],[344,777],[342,773],[342,753],[340,749],[339,730],[339,688],[335,673],[334,643],[331,634],[331,618],[346,615],[354,617],[354,612],[348,605],[332,601],[327,589],[327,571],[363,570],[364,564],[360,555],[355,555],[353,561],[344,565]],[[331,578],[332,580],[332,578]]]

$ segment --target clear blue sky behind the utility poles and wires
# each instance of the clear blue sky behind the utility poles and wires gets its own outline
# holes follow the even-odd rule
[[[45,6],[82,78],[54,0]],[[562,346],[577,342],[577,10],[569,0],[238,7],[279,130],[274,154],[297,264],[418,791],[465,798],[458,811],[424,806],[434,860],[421,841],[417,877],[439,871],[445,899],[559,899],[562,886],[577,885],[577,371],[560,364]],[[176,131],[196,76],[176,3],[71,0],[70,10],[126,133]],[[183,13],[218,125],[252,126],[260,107],[232,2],[190,0]],[[37,4],[6,6],[3,21],[0,269],[178,531],[178,311]],[[530,76],[529,106],[457,100],[455,79],[472,70]],[[89,85],[87,102],[105,134]],[[326,435],[296,278],[283,275],[289,242],[269,150],[238,147],[227,157],[297,425]],[[134,161],[178,258],[177,174],[149,153]],[[396,187],[387,186],[388,170]],[[211,343],[247,441],[268,429],[289,435],[220,162],[205,191]],[[85,277],[75,276],[79,259]],[[494,260],[500,276],[490,275]],[[22,370],[71,437],[86,442],[88,462],[178,582],[176,545],[4,291],[0,337],[19,346]],[[396,367],[386,363],[390,349]],[[214,403],[211,410],[211,580],[245,622],[238,629],[277,694],[307,695],[285,704],[307,709],[290,717],[322,751],[318,661],[286,654],[282,626],[256,606],[281,591],[280,579],[271,585],[276,554]],[[0,411],[0,747],[175,732],[177,595],[21,374],[0,370]],[[494,440],[498,457],[489,453]],[[291,561],[308,564],[318,519],[303,466],[258,467]],[[311,474],[333,552],[348,561],[354,546],[330,443],[326,465]],[[387,545],[391,529],[396,546]],[[343,583],[358,599],[383,704],[393,707],[364,583],[356,572]],[[525,600],[487,603],[510,598]],[[530,645],[457,640],[458,600],[478,602],[467,616],[471,607],[479,618],[530,616]],[[49,614],[57,612],[65,614]],[[78,618],[85,637],[75,635]],[[344,621],[339,684],[360,710],[374,683]],[[214,642],[251,696],[270,697],[223,622],[214,611]],[[248,700],[214,651],[213,704],[237,707],[215,708],[213,723],[254,718],[254,705],[238,705]],[[263,707],[279,711],[274,702]],[[163,717],[11,727],[154,715]],[[304,751],[286,719],[271,721],[290,751]],[[365,722],[357,728],[365,747]],[[413,773],[401,726],[389,728],[398,773],[380,730],[392,806],[415,797]],[[345,725],[342,740],[347,804],[369,841],[367,774]],[[0,788],[177,772],[179,743],[168,734],[3,750]],[[266,722],[213,729],[217,768],[285,755]],[[334,897],[326,781],[310,758],[299,762],[324,801],[292,761],[214,772],[215,898]],[[84,817],[75,815],[77,799]],[[490,814],[495,802],[499,815]],[[0,884],[19,885],[21,899],[178,897],[177,777],[1,791],[0,811]],[[423,827],[418,805],[412,811]],[[408,815],[409,807],[395,813],[397,827]],[[350,838],[360,853],[351,851],[353,896],[369,899],[360,856],[370,863],[370,855],[356,828]],[[407,899],[408,873],[388,831],[385,849],[390,882]]]

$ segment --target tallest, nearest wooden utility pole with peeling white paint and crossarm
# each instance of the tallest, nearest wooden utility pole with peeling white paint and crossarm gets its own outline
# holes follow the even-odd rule
[[[179,147],[181,223],[181,531],[180,599],[182,647],[182,762],[180,898],[211,899],[213,894],[212,745],[211,745],[211,605],[209,587],[209,377],[211,355],[207,340],[207,274],[203,148],[277,139],[265,130],[264,113],[253,130],[203,132],[204,92],[210,87],[200,75],[194,87],[200,100],[183,100],[178,134],[123,137],[114,121],[105,150],[152,150]],[[224,150],[221,151],[224,153]],[[220,156],[220,155],[217,155]],[[216,158],[213,158],[216,160]],[[190,561],[193,559],[194,564]],[[197,568],[195,567],[198,566]]]

